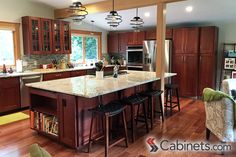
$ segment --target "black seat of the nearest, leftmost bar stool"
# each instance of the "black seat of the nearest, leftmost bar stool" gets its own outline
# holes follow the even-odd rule
[[[126,106],[122,105],[121,102],[113,101],[107,105],[99,105],[93,109],[90,109],[89,111],[111,116],[121,113],[125,108]]]

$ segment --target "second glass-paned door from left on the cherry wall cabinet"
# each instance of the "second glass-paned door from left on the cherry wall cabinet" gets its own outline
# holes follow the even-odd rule
[[[41,19],[42,53],[52,52],[52,20]]]

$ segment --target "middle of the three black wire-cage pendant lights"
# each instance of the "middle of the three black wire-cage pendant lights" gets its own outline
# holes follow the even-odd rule
[[[117,11],[115,11],[115,2],[113,0],[112,11],[105,18],[107,20],[107,24],[111,27],[117,27],[122,22],[122,16],[120,16]]]

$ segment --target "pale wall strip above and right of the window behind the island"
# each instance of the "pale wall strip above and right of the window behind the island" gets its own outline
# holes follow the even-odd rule
[[[108,32],[106,30],[93,26],[91,24],[88,24],[86,22],[82,22],[82,24],[76,24],[76,23],[71,22],[71,28],[76,29],[76,30],[102,32],[102,53],[103,54],[107,53],[107,33]]]

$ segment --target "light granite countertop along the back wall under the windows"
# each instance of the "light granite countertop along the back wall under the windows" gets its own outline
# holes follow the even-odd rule
[[[106,67],[114,67],[114,65],[107,65]],[[122,66],[124,67],[124,66]],[[7,78],[7,77],[19,77],[19,76],[29,76],[29,75],[40,75],[40,74],[48,74],[48,73],[57,73],[57,72],[67,72],[67,71],[77,71],[77,70],[89,70],[94,69],[94,66],[82,66],[82,67],[75,67],[71,69],[35,69],[32,71],[25,71],[22,73],[14,72],[12,74],[3,74],[0,73],[0,78]]]

